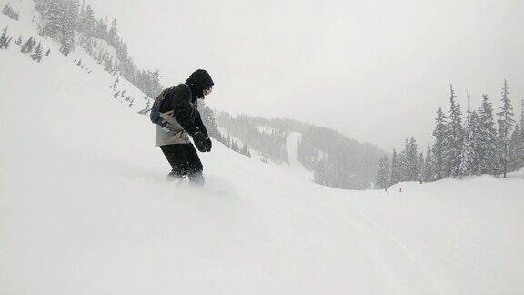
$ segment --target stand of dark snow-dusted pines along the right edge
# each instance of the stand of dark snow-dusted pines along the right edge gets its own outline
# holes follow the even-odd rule
[[[424,155],[417,141],[406,139],[398,153],[393,150],[378,161],[377,188],[388,188],[400,181],[430,182],[443,178],[464,178],[490,174],[504,177],[524,166],[524,100],[520,124],[516,118],[509,86],[504,81],[497,111],[487,95],[482,95],[478,110],[470,108],[468,95],[466,114],[462,114],[457,94],[450,86],[449,108],[437,111],[434,142]]]

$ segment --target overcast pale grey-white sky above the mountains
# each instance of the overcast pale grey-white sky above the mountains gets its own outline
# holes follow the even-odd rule
[[[196,68],[211,107],[334,127],[381,148],[427,145],[448,85],[466,105],[524,98],[522,0],[86,0],[116,17],[139,66],[165,86]]]

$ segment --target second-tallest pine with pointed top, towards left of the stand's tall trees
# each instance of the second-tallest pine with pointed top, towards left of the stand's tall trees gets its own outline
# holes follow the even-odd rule
[[[453,86],[449,86],[451,95],[449,97],[449,122],[446,137],[446,175],[453,178],[459,176],[460,154],[464,139],[462,128],[462,114],[460,104],[455,101],[457,95]]]

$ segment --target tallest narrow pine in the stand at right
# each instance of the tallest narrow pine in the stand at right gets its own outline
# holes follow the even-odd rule
[[[509,101],[509,88],[508,83],[504,80],[504,87],[502,87],[502,106],[499,107],[499,132],[498,132],[498,152],[499,152],[499,170],[497,174],[503,174],[506,178],[506,173],[508,172],[508,162],[509,162],[509,133],[515,120],[513,117],[513,107],[511,107],[511,102]]]

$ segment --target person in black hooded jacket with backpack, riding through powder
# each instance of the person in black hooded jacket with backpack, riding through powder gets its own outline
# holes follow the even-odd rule
[[[189,137],[200,152],[211,151],[212,142],[197,110],[197,99],[209,95],[213,84],[207,71],[198,69],[185,84],[162,91],[153,104],[151,120],[156,123],[156,146],[162,149],[172,168],[168,180],[187,176],[197,185],[204,184],[202,162]]]

